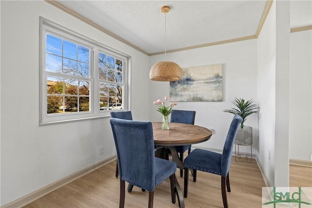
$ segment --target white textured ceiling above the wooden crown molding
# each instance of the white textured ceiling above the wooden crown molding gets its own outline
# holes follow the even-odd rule
[[[266,0],[58,0],[147,54],[253,36]],[[311,0],[291,1],[291,28],[312,24]]]

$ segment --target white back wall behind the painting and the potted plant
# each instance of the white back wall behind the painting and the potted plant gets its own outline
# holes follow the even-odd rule
[[[170,37],[167,37],[170,42]],[[222,102],[178,102],[174,109],[195,110],[195,125],[215,129],[215,134],[210,140],[192,145],[193,148],[222,150],[226,134],[233,114],[223,110],[234,107],[231,101],[234,97],[254,99],[256,95],[256,39],[198,48],[167,54],[168,61],[175,61],[181,68],[222,64],[223,76],[223,101]],[[150,57],[150,66],[163,60],[164,55]],[[169,82],[150,81],[150,120],[161,121],[162,116],[153,106],[153,101],[169,96]],[[257,114],[248,117],[245,125],[252,126],[254,131],[253,153],[257,150]],[[240,151],[249,152],[250,146],[241,147]]]

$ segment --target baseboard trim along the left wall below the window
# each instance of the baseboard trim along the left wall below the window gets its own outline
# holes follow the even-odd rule
[[[3,205],[1,208],[20,208],[20,207],[23,207],[33,201],[35,201],[36,199],[39,199],[40,197],[56,190],[56,189],[59,189],[60,187],[80,178],[81,176],[85,175],[85,174],[88,174],[89,172],[92,172],[93,170],[96,170],[100,167],[102,167],[103,165],[106,165],[110,162],[112,162],[113,160],[116,159],[116,155],[115,156],[112,156],[112,157],[109,157],[105,160],[102,160],[92,166],[89,166],[85,169],[82,169],[82,170],[79,170],[65,178],[62,178],[52,184],[49,184],[48,186],[45,186],[41,189],[38,189],[34,192],[31,192],[23,197],[20,197],[19,199],[17,200],[14,200],[13,202],[10,202],[6,205]]]

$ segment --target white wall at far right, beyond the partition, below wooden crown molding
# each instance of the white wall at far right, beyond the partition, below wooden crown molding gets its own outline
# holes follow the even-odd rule
[[[312,155],[312,30],[291,33],[289,154],[311,161]]]

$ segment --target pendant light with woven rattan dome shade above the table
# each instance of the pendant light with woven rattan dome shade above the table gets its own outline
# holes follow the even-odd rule
[[[169,6],[160,8],[165,13],[165,61],[159,61],[154,64],[150,70],[150,79],[153,81],[177,81],[182,78],[182,69],[172,61],[166,61],[166,13],[170,11]]]

